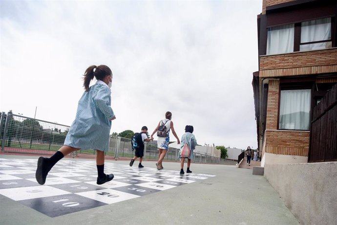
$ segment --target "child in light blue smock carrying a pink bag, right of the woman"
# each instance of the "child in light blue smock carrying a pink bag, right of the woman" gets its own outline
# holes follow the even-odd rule
[[[194,159],[193,150],[195,149],[195,146],[197,145],[195,136],[192,134],[193,133],[193,126],[187,125],[185,127],[185,132],[186,133],[181,137],[181,147],[180,147],[180,150],[179,150],[180,174],[185,174],[185,172],[184,172],[185,157],[181,156],[181,150],[184,148],[185,144],[187,144],[190,148],[190,156],[187,159],[186,173],[192,173],[192,171],[190,171],[190,164],[191,164],[191,159]]]

